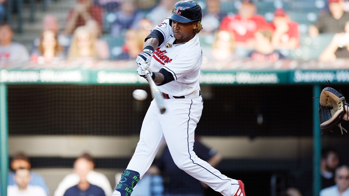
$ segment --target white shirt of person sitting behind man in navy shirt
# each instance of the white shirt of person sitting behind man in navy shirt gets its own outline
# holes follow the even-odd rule
[[[90,171],[87,174],[86,178],[89,183],[101,187],[105,195],[113,194],[113,189],[111,188],[110,182],[104,174]],[[66,175],[64,179],[58,184],[57,189],[54,191],[54,196],[63,196],[68,188],[75,186],[79,182],[80,178],[77,174],[72,173]]]

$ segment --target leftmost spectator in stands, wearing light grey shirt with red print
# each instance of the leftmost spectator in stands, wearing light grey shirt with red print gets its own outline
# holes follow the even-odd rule
[[[28,61],[27,48],[12,42],[13,30],[8,24],[0,25],[0,62]]]

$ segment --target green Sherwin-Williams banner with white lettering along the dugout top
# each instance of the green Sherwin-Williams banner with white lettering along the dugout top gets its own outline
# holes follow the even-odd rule
[[[349,83],[349,70],[203,70],[201,84],[316,84]],[[135,70],[6,70],[0,69],[1,83],[34,84],[147,84]]]

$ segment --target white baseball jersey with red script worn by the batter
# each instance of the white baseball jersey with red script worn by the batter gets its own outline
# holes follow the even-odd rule
[[[155,29],[163,34],[164,42],[156,48],[149,67],[152,71],[164,68],[172,73],[174,78],[174,81],[158,86],[159,90],[172,96],[185,96],[199,90],[202,49],[198,35],[185,44],[172,44],[176,38],[173,36],[169,19],[164,20]],[[172,47],[166,48],[168,43]]]

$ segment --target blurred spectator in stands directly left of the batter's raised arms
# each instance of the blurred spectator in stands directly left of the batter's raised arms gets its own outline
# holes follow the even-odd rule
[[[116,60],[135,60],[137,55],[143,51],[144,39],[141,30],[128,30],[125,36],[125,44],[122,46],[122,53],[116,57]]]

